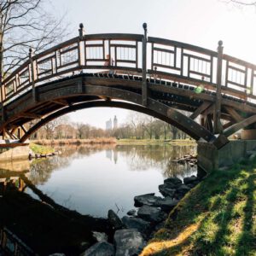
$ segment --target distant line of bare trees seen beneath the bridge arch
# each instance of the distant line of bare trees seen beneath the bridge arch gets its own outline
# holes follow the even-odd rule
[[[31,139],[89,139],[116,137],[117,139],[184,139],[188,137],[177,127],[143,113],[131,112],[124,124],[118,128],[105,130],[89,124],[72,122],[68,116],[50,121],[36,131]],[[26,125],[35,125],[37,120]]]

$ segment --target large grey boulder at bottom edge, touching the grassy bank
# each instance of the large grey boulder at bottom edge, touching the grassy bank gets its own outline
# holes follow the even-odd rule
[[[137,255],[146,245],[142,234],[135,229],[117,230],[113,240],[116,247],[115,256]]]

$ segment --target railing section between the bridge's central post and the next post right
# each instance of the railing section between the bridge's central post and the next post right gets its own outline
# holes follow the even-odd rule
[[[163,38],[149,37],[148,43],[151,43],[148,73],[216,84],[217,52]]]

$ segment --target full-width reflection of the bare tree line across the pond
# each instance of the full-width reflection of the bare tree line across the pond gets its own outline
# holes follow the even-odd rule
[[[171,146],[171,145],[82,145],[65,146],[56,148],[61,152],[56,157],[34,160],[30,168],[30,180],[34,184],[43,184],[49,179],[51,172],[67,167],[73,159],[81,159],[84,156],[96,154],[102,150],[113,152],[115,162],[118,154],[123,156],[133,171],[143,171],[148,168],[158,168],[164,177],[188,176],[196,171],[191,170],[189,165],[179,165],[173,162],[174,159],[184,154],[195,152],[195,146]]]

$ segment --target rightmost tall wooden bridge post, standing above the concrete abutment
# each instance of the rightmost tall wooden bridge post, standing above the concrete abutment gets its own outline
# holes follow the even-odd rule
[[[218,41],[218,61],[217,61],[217,88],[216,88],[216,102],[213,112],[213,131],[215,134],[223,132],[223,126],[220,122],[221,116],[221,77],[222,77],[222,61],[223,61],[223,42]]]

